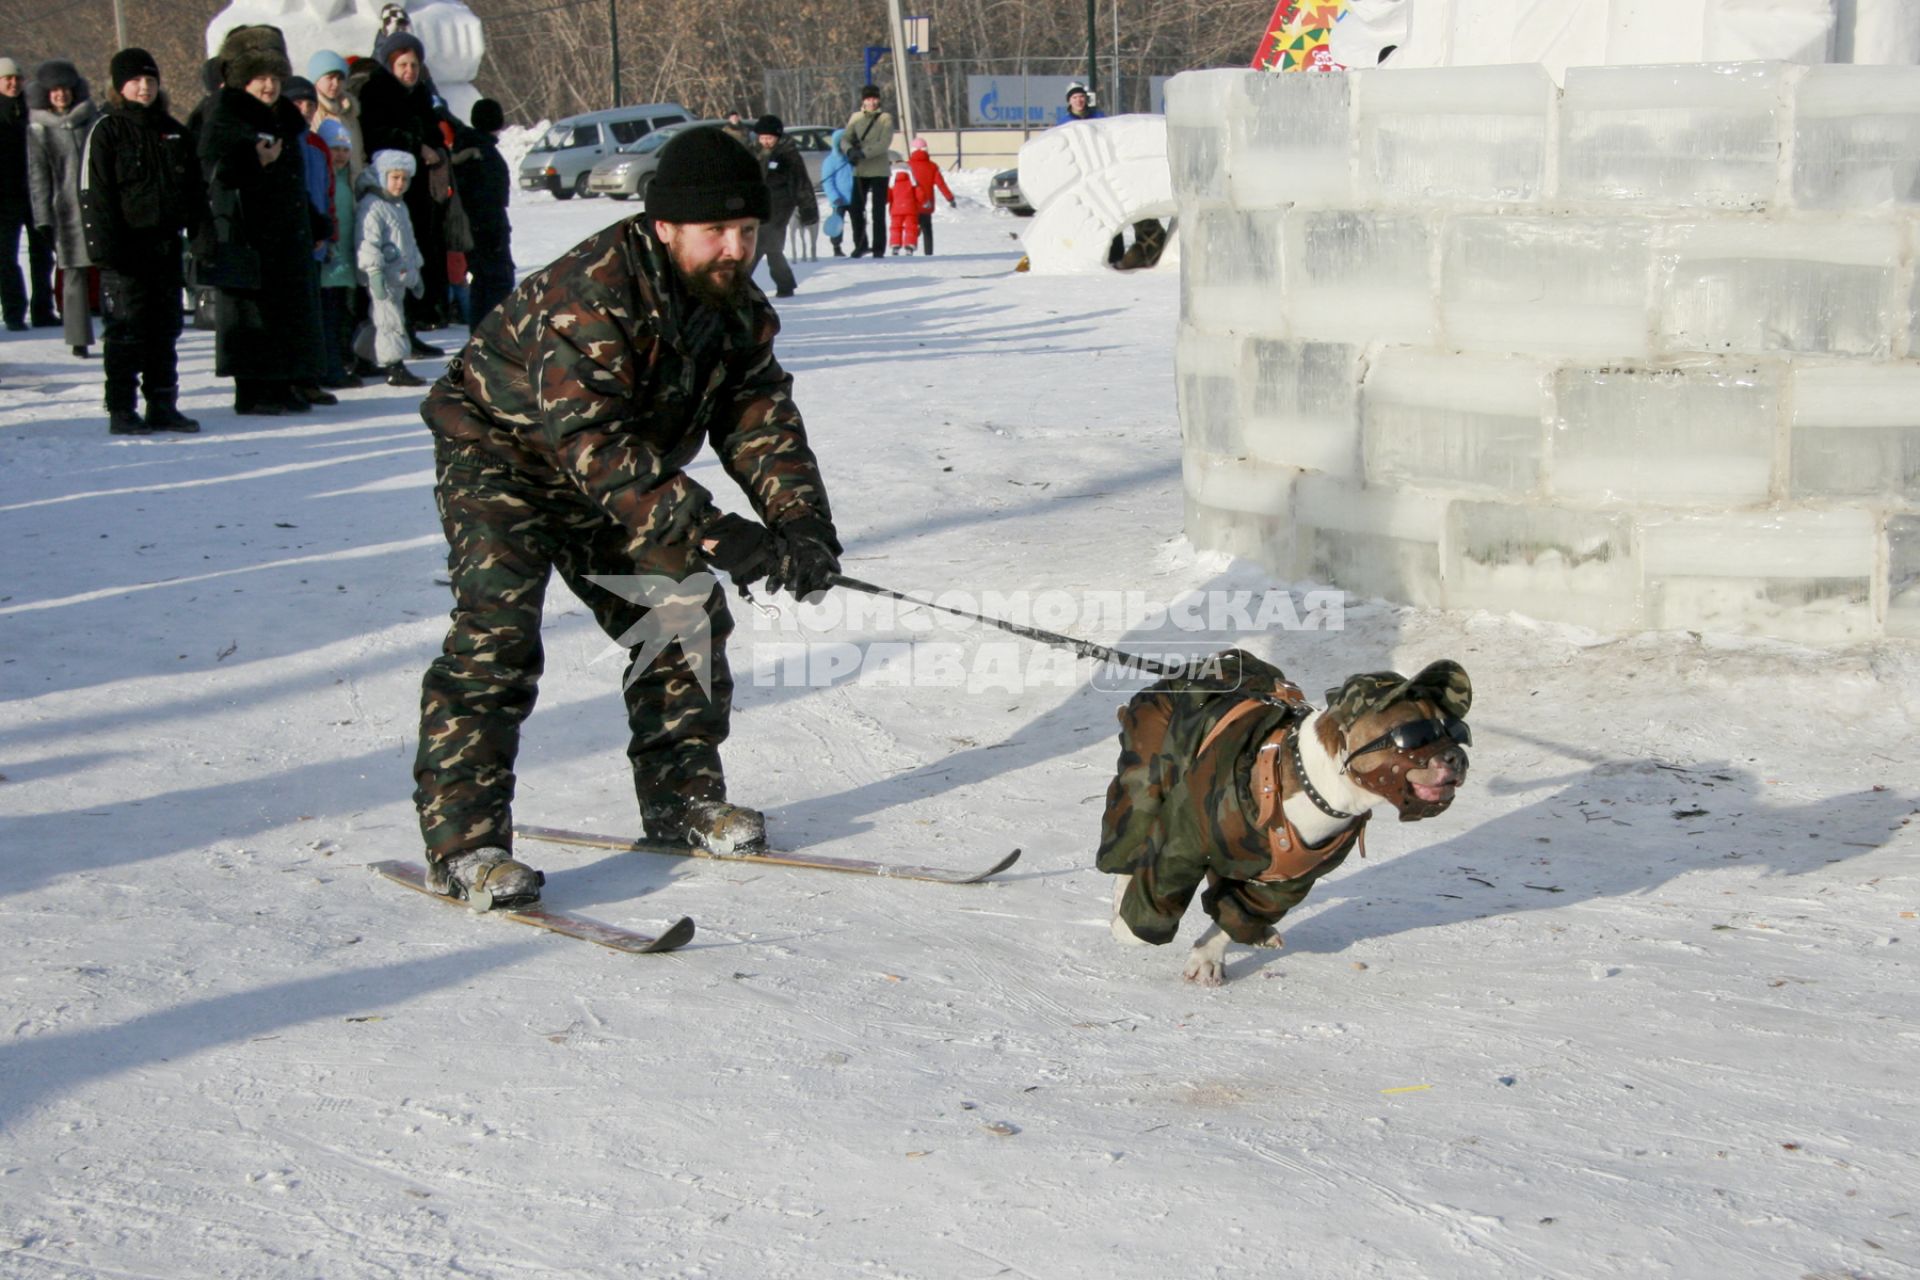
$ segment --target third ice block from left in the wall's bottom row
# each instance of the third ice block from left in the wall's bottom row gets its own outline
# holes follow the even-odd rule
[[[1457,501],[1448,507],[1448,608],[1519,612],[1596,631],[1640,626],[1626,512]]]

